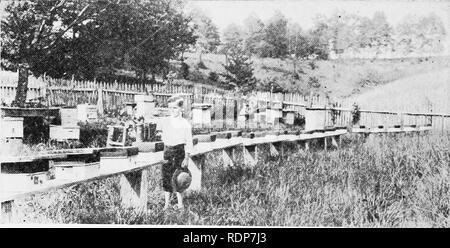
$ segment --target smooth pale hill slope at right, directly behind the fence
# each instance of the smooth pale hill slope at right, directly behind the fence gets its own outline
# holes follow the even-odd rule
[[[352,98],[363,109],[450,113],[450,68],[405,77]]]

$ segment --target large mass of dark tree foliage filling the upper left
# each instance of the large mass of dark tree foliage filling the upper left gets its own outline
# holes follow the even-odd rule
[[[91,79],[125,66],[145,77],[167,69],[195,42],[171,0],[11,2],[2,21],[2,58],[52,77]]]

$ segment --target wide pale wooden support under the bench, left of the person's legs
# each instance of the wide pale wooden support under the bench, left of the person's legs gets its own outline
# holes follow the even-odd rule
[[[120,197],[125,208],[147,210],[148,170],[134,171],[120,175]]]

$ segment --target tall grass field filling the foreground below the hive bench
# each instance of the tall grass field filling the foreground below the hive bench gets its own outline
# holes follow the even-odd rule
[[[163,211],[159,168],[151,169],[149,211],[120,207],[118,178],[19,203],[27,222],[151,225],[449,227],[450,135],[348,136],[344,147],[233,169],[207,157],[205,187],[187,209]],[[263,149],[264,150],[264,149]]]

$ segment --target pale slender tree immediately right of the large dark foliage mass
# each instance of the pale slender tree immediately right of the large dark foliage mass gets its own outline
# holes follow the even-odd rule
[[[205,52],[216,52],[220,45],[220,36],[217,26],[211,18],[198,9],[194,9],[190,14],[195,23],[195,35],[197,39],[197,51],[199,52],[199,62],[202,62],[202,54]]]

